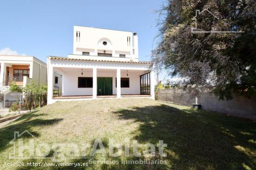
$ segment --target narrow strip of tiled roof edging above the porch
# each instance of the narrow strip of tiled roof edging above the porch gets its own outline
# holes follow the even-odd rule
[[[68,60],[68,61],[88,61],[88,62],[105,62],[105,63],[137,63],[137,64],[152,64],[152,62],[133,62],[133,61],[109,61],[109,60],[93,60],[93,59],[78,59],[78,58],[67,58],[67,57],[52,57],[52,60]]]

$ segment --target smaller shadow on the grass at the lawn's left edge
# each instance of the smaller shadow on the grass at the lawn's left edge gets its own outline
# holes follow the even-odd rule
[[[45,114],[34,114],[37,111],[32,113],[27,113],[21,116],[19,119],[13,121],[12,123],[8,124],[0,128],[0,151],[5,150],[11,140],[13,140],[14,132],[23,132],[27,130],[35,137],[39,137],[40,134],[38,132],[34,132],[31,130],[32,127],[35,126],[47,126],[47,125],[54,125],[60,122],[62,119],[50,119],[50,120],[42,120],[42,119],[35,119],[38,116],[45,115]],[[33,119],[32,119],[33,118]],[[31,138],[30,135],[23,135],[23,138]]]

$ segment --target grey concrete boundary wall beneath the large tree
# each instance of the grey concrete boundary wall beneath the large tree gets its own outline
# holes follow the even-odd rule
[[[230,101],[222,101],[214,94],[207,92],[198,97],[198,104],[205,110],[256,120],[256,97],[250,99],[236,95],[233,97]],[[192,103],[195,103],[195,98],[190,99],[189,94],[186,94],[182,89],[160,90],[158,99],[186,106],[192,106]]]

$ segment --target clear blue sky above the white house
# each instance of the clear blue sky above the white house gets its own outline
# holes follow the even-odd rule
[[[2,0],[0,53],[67,57],[74,25],[137,32],[139,60],[149,61],[162,0]]]

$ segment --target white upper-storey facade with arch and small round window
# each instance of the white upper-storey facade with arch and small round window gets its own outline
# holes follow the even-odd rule
[[[80,31],[80,37],[78,38],[76,36],[77,31]],[[129,42],[127,40],[128,37]],[[107,45],[102,44],[104,41],[107,42]],[[137,36],[134,36],[132,32],[128,31],[74,26],[73,53],[82,55],[82,52],[89,52],[90,56],[98,56],[98,53],[103,53],[105,50],[106,53],[112,54],[112,57],[119,57],[119,54],[125,54],[127,58],[137,61],[137,41]]]

